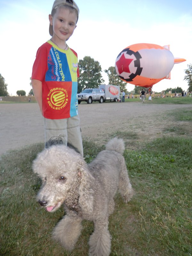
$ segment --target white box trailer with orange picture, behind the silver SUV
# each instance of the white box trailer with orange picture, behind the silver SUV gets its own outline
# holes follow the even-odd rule
[[[105,93],[104,101],[116,101],[119,100],[120,87],[113,84],[100,84],[99,89],[102,89]]]

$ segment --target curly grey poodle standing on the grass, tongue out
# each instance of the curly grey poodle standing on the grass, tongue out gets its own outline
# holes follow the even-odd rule
[[[66,215],[53,229],[52,236],[71,251],[81,233],[81,221],[94,222],[89,240],[90,256],[108,256],[111,236],[108,217],[114,211],[117,190],[127,203],[132,197],[124,157],[124,142],[114,138],[90,164],[66,146],[44,149],[33,163],[33,170],[43,184],[37,195],[48,211],[56,211],[64,203]]]

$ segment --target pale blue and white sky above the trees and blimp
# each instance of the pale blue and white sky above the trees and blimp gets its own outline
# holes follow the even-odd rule
[[[37,49],[51,38],[48,15],[53,0],[0,0],[0,74],[7,91],[16,95],[32,89],[30,77]],[[74,34],[67,44],[78,59],[90,56],[100,62],[102,76],[115,66],[117,55],[127,46],[138,43],[170,45],[173,56],[186,59],[176,64],[171,79],[153,86],[153,91],[167,88],[188,89],[183,80],[192,63],[192,1],[183,0],[76,0],[80,9]],[[127,90],[134,85],[127,84]]]

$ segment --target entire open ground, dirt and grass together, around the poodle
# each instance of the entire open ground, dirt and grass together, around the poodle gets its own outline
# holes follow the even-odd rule
[[[116,196],[109,218],[110,256],[192,255],[192,99],[167,99],[79,105],[87,162],[112,137],[123,138],[126,145],[124,157],[135,196],[129,204]],[[83,222],[75,250],[67,252],[51,240],[63,209],[50,214],[35,200],[40,180],[31,164],[44,147],[37,104],[0,108],[0,255],[86,256],[93,224]]]

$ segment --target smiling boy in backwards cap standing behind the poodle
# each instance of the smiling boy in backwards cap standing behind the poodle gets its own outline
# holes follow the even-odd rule
[[[79,8],[72,0],[55,0],[49,14],[52,36],[37,51],[32,88],[44,116],[45,148],[65,144],[83,156],[78,116],[78,59],[66,41],[72,36]]]

